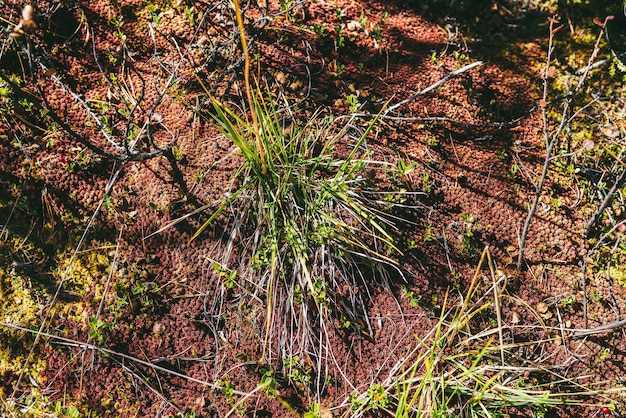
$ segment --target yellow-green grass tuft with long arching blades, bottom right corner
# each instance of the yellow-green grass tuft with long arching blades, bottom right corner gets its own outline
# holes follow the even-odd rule
[[[479,293],[486,262],[492,285]],[[527,339],[525,327],[502,321],[497,301],[508,297],[506,277],[493,267],[486,248],[465,295],[455,303],[446,294],[430,332],[415,336],[415,348],[401,356],[385,379],[350,394],[343,416],[378,411],[397,418],[543,417],[568,406],[612,405],[611,395],[624,387],[596,390],[584,376],[567,377],[566,366],[548,364],[545,353],[559,337],[550,336],[545,325],[527,326],[534,336]],[[487,297],[491,293],[493,300]],[[485,327],[489,316],[497,319]]]

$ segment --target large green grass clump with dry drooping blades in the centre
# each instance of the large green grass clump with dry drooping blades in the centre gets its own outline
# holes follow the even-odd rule
[[[319,112],[303,121],[286,101],[266,99],[258,88],[251,102],[254,123],[213,101],[212,116],[243,163],[237,186],[194,238],[229,214],[228,245],[217,270],[229,287],[237,284],[264,301],[264,353],[274,333],[293,347],[292,338],[280,337],[285,329],[296,330],[301,349],[310,350],[313,328],[325,329],[332,318],[367,333],[371,282],[364,269],[396,266],[397,219],[390,208],[408,194],[383,192],[381,182],[402,178],[398,167],[407,165],[371,158],[367,138],[376,119],[362,129],[352,121],[339,127]],[[241,267],[231,269],[233,249]]]

